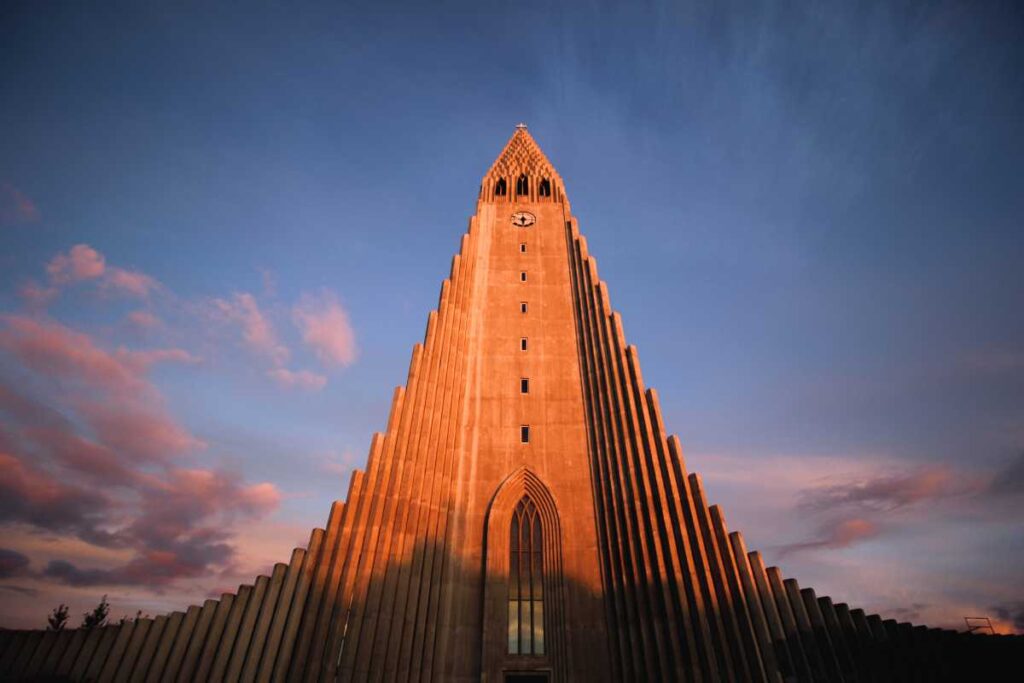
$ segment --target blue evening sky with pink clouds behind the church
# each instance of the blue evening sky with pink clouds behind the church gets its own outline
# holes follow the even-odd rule
[[[520,121],[712,502],[1024,633],[1014,2],[0,7],[0,626],[287,561]]]

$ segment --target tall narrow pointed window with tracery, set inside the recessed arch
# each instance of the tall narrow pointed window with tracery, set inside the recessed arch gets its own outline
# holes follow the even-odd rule
[[[544,654],[544,539],[537,506],[515,506],[509,537],[509,654]]]

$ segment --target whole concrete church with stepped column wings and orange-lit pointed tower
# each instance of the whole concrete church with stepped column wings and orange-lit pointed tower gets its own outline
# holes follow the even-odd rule
[[[818,597],[729,532],[520,124],[326,527],[184,612],[0,633],[0,679],[945,680],[1020,652]]]

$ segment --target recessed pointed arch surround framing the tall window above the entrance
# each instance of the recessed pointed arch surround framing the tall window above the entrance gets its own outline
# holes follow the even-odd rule
[[[543,529],[545,606],[545,654],[508,653],[509,527],[516,506],[528,498],[537,508]],[[503,680],[505,670],[536,668],[550,671],[554,680],[565,680],[568,669],[565,647],[564,584],[562,580],[562,531],[558,506],[551,490],[530,469],[520,467],[498,487],[487,506],[484,531],[483,671],[487,680]]]

